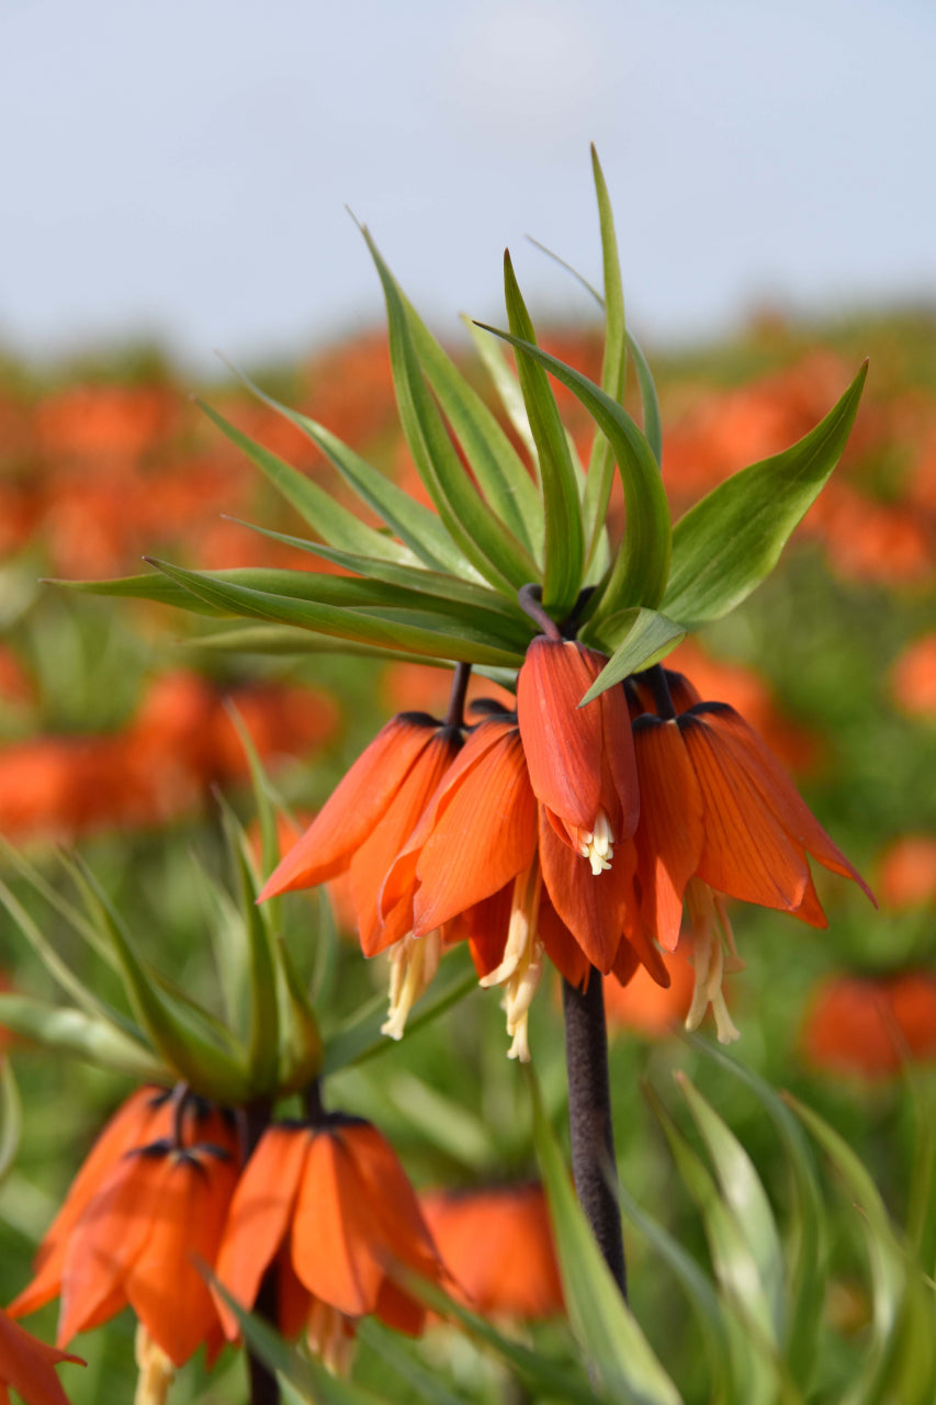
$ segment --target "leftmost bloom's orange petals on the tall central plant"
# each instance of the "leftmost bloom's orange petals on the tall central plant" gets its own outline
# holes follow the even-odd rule
[[[377,910],[384,875],[461,742],[460,728],[424,712],[392,718],[270,875],[260,901],[350,870],[361,947],[365,955],[382,951],[392,940]]]

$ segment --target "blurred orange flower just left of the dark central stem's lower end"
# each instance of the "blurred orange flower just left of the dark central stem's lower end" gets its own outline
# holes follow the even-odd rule
[[[457,1302],[535,1322],[562,1312],[562,1281],[542,1187],[436,1190],[420,1197]]]

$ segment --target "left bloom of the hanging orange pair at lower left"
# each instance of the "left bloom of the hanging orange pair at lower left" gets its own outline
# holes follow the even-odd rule
[[[10,1311],[59,1295],[56,1340],[67,1346],[129,1304],[176,1366],[202,1340],[211,1350],[219,1324],[194,1260],[214,1263],[236,1176],[223,1114],[186,1094],[136,1094],[93,1148]]]

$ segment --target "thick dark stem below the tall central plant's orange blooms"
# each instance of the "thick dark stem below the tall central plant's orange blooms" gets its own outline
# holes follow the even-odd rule
[[[575,1190],[621,1297],[627,1298],[607,1076],[604,992],[599,971],[592,968],[586,991],[576,991],[568,981],[562,982],[562,1010]]]

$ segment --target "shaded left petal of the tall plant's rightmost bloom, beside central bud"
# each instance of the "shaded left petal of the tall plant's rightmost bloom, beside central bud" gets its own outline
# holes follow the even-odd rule
[[[641,819],[637,877],[641,919],[668,951],[679,940],[683,892],[703,850],[703,804],[689,753],[675,721],[645,714],[634,724]]]

